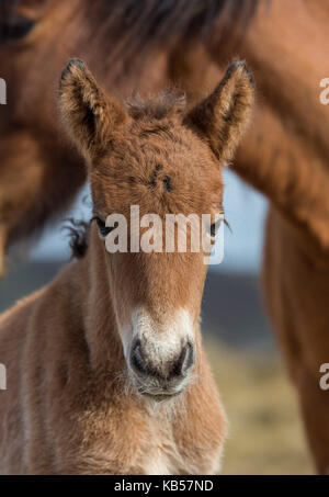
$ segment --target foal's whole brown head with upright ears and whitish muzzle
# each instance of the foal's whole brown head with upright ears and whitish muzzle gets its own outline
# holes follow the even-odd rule
[[[60,79],[63,113],[89,167],[97,222],[90,242],[98,246],[109,280],[129,375],[140,393],[155,399],[182,392],[197,369],[206,266],[203,251],[192,250],[192,230],[184,252],[177,239],[173,252],[166,252],[164,242],[162,251],[133,248],[131,205],[139,206],[140,218],[156,214],[160,221],[167,214],[215,217],[223,212],[220,167],[232,156],[252,100],[253,81],[243,63],[231,64],[215,91],[190,111],[172,93],[123,108],[76,59]],[[126,252],[106,250],[113,235],[106,219],[114,213],[127,223]],[[164,226],[156,225],[154,237],[161,238]],[[216,226],[206,226],[213,240]],[[137,225],[137,231],[147,236],[145,226]]]

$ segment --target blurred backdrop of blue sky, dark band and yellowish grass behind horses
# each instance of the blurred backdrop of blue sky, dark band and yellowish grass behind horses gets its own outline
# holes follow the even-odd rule
[[[266,202],[225,171],[225,256],[209,268],[202,324],[229,419],[224,474],[309,474],[313,465],[295,393],[280,359],[261,298]],[[20,247],[0,282],[0,310],[49,282],[70,259],[65,218],[90,218],[86,187],[72,210],[42,238]],[[27,256],[29,253],[29,256]]]

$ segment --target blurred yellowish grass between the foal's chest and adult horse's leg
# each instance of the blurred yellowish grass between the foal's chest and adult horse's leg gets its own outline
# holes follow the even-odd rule
[[[275,354],[205,342],[229,419],[223,474],[313,474],[294,388]]]

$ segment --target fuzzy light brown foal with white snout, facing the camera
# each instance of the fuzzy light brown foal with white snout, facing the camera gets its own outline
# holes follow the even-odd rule
[[[202,348],[203,252],[109,253],[111,213],[222,211],[220,167],[253,81],[230,65],[191,111],[171,93],[122,108],[80,60],[60,106],[83,153],[95,222],[86,255],[0,318],[0,472],[214,473],[225,416]],[[214,226],[208,226],[214,237]]]

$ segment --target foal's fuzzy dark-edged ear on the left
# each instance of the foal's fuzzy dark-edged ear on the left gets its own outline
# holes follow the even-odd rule
[[[61,72],[59,99],[72,138],[88,159],[102,155],[113,131],[128,118],[79,59],[69,60]]]

